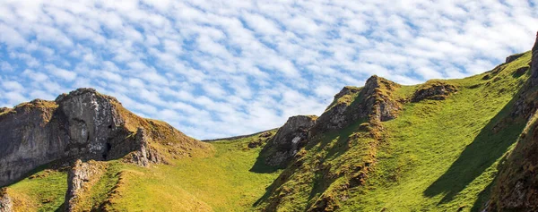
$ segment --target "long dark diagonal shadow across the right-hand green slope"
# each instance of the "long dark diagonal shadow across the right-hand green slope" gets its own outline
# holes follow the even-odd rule
[[[498,127],[501,129],[497,133],[493,129],[505,117],[508,117],[514,101],[515,98],[482,128],[482,131],[471,144],[467,145],[462,154],[448,168],[447,172],[423,192],[425,196],[434,197],[438,194],[445,194],[438,204],[454,199],[456,194],[463,191],[469,183],[473,182],[476,177],[480,176],[499,157],[506,153],[507,149],[516,142],[519,134],[523,131],[525,123],[515,121],[515,123],[499,124]],[[475,204],[480,203],[476,202]]]

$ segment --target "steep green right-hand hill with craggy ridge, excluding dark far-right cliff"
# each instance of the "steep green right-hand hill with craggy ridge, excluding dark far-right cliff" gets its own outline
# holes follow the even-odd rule
[[[346,87],[258,202],[266,211],[482,208],[525,120],[511,111],[531,53],[462,80]],[[373,92],[372,92],[373,91]]]

